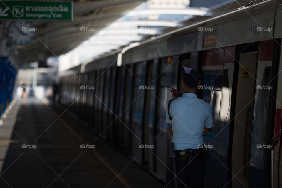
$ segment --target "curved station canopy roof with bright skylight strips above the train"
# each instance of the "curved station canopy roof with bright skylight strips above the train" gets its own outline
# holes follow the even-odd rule
[[[72,22],[31,22],[37,28],[35,37],[26,46],[16,46],[19,59],[29,63],[40,55],[55,57],[63,71],[130,43],[246,6],[249,0],[219,1],[209,7],[194,2],[197,1],[74,1]]]

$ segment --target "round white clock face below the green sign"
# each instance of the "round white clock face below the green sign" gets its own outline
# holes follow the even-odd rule
[[[8,26],[8,38],[17,45],[26,45],[32,41],[36,28],[29,21],[12,21]]]

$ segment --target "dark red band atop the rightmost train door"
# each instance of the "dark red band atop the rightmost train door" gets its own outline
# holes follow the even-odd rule
[[[271,61],[273,56],[274,40],[259,43],[259,61]]]

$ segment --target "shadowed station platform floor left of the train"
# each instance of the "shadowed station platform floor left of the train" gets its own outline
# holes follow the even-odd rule
[[[0,119],[1,188],[164,187],[48,100],[11,105]]]

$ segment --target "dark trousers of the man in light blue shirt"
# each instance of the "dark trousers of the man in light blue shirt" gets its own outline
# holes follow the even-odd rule
[[[177,153],[177,150],[175,150]],[[179,151],[179,150],[178,150]],[[179,152],[178,152],[179,153]],[[206,162],[201,158],[200,153],[194,155],[192,162],[188,165],[187,161],[181,161],[179,154],[175,158],[177,188],[204,188],[204,177],[206,175]],[[172,170],[172,159],[169,162],[169,169],[167,170],[166,188],[174,187],[174,174]],[[187,183],[185,186],[185,179]]]

